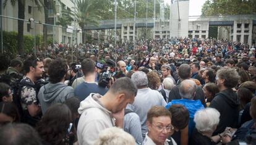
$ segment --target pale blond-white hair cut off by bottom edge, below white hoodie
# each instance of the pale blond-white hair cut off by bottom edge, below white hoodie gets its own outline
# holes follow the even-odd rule
[[[94,145],[124,144],[135,145],[135,139],[121,128],[111,127],[100,132]]]

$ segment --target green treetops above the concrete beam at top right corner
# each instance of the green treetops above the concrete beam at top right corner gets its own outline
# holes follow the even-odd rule
[[[202,15],[256,14],[255,0],[207,0]]]

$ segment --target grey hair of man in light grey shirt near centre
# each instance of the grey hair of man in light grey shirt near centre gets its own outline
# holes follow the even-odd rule
[[[148,85],[148,77],[145,72],[138,71],[132,74],[132,81],[138,88]]]

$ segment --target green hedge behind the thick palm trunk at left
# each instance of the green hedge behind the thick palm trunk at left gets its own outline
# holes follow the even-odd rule
[[[18,41],[17,41],[18,33],[15,31],[3,31],[3,40],[4,40],[4,48],[8,54],[12,54],[15,56],[18,54]],[[34,48],[34,37],[31,35],[24,35],[24,52],[30,53]],[[36,46],[43,46],[43,36],[36,35]]]

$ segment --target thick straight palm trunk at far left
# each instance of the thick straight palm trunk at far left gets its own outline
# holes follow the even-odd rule
[[[18,1],[18,17],[19,19],[25,18],[25,1],[19,0]],[[18,52],[20,55],[24,54],[24,39],[23,39],[23,30],[24,30],[24,22],[23,20],[18,20]]]

